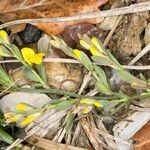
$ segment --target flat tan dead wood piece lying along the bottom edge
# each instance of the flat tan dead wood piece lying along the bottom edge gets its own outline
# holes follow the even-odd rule
[[[26,140],[27,143],[32,144],[34,146],[44,148],[45,150],[86,150],[84,148],[78,148],[75,146],[70,146],[70,145],[65,145],[65,144],[60,144],[54,141],[50,141],[38,136],[31,136]]]

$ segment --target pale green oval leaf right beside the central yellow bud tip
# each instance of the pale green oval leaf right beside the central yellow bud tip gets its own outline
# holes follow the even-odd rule
[[[93,71],[93,64],[88,56],[84,52],[80,52],[81,62],[85,66],[85,68],[89,71]]]

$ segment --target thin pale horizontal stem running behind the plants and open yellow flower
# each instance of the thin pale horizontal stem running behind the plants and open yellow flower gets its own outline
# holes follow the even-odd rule
[[[18,60],[1,60],[2,63],[18,63]],[[81,64],[81,62],[75,59],[66,59],[66,58],[45,58],[43,62],[60,62],[60,63],[71,63],[71,64]],[[99,65],[98,63],[94,63]],[[130,66],[130,65],[122,65],[125,69],[133,69],[133,70],[150,70],[150,65],[146,66]]]

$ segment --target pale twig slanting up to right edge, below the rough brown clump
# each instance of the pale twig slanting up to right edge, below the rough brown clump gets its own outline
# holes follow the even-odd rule
[[[137,62],[143,55],[145,55],[149,51],[150,51],[150,43],[146,47],[144,47],[144,49],[140,51],[140,53],[136,57],[134,57],[134,59],[128,65],[132,66],[135,62]]]

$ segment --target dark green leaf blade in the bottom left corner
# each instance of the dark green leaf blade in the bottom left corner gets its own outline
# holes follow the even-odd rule
[[[14,142],[14,138],[1,128],[0,128],[0,140],[8,144],[12,144]]]

